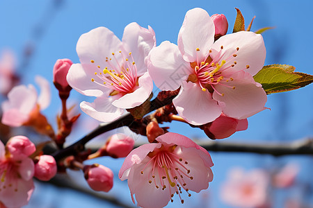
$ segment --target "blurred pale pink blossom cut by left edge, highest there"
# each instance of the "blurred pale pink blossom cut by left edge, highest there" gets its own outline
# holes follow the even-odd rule
[[[0,93],[7,94],[15,85],[15,57],[10,50],[4,50],[0,59]]]

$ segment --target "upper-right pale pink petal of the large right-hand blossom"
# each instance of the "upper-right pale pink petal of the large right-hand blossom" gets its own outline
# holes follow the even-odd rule
[[[211,49],[212,51],[220,51],[220,46],[223,46],[223,60],[232,57],[236,53],[235,66],[232,71],[240,71],[246,69],[252,76],[254,76],[264,66],[266,56],[266,49],[262,35],[241,31],[220,37],[214,42]],[[236,49],[239,48],[239,51]],[[212,57],[214,58],[214,57]]]

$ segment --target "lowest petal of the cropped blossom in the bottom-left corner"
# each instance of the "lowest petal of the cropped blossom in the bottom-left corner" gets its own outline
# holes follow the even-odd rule
[[[6,191],[0,191],[0,201],[8,208],[27,205],[34,189],[33,180],[22,179],[17,179],[12,187],[6,187]]]

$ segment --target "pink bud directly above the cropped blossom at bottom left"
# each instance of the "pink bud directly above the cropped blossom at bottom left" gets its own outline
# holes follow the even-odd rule
[[[6,144],[6,148],[15,160],[29,157],[36,150],[33,142],[24,136],[12,137]]]

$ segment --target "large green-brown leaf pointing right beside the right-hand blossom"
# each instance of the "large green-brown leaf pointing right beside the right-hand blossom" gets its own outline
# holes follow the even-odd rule
[[[296,68],[285,64],[264,66],[253,78],[262,84],[266,94],[287,92],[313,83],[313,76],[294,72]]]

